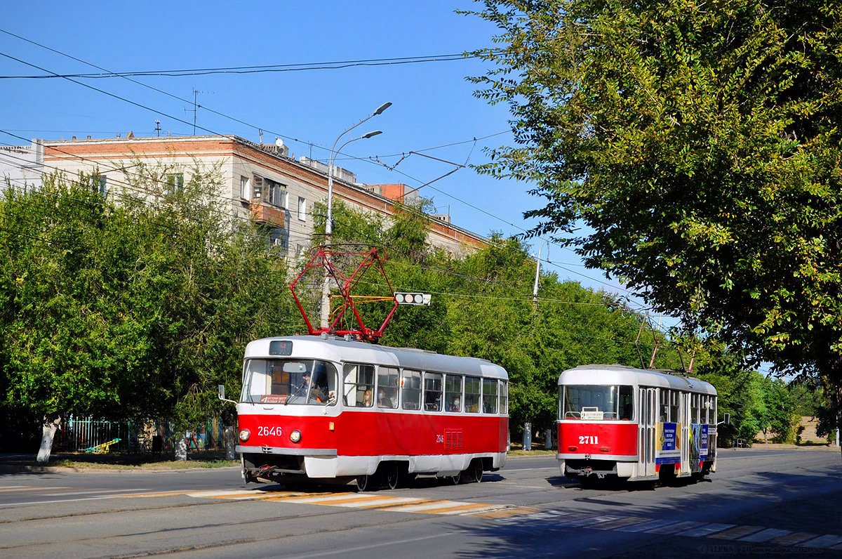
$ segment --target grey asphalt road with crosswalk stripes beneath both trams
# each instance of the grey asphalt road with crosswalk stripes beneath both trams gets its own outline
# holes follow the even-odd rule
[[[722,450],[706,481],[583,490],[551,456],[482,483],[244,486],[235,469],[0,475],[2,557],[842,557],[842,459]]]

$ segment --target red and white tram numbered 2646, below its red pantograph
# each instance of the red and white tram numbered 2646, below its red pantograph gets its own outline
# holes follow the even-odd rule
[[[246,347],[237,413],[245,481],[480,481],[506,460],[508,376],[327,334],[264,338]]]

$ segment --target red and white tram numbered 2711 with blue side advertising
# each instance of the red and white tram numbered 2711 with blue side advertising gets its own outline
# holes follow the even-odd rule
[[[583,484],[717,469],[717,390],[663,371],[586,365],[558,377],[558,464]]]

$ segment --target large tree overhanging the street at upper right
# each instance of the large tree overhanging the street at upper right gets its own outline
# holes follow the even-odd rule
[[[689,331],[842,400],[842,10],[831,0],[485,0],[536,232]]]

